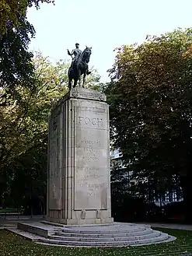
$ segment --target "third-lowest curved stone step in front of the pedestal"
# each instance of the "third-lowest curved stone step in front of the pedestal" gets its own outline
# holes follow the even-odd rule
[[[55,235],[60,237],[133,237],[133,236],[145,236],[150,233],[154,233],[154,230],[148,229],[138,232],[129,232],[127,230],[122,231],[121,233],[69,233],[63,230],[62,232],[55,233]]]

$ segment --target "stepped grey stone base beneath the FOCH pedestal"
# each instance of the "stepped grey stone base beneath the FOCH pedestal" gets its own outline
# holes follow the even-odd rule
[[[61,227],[46,223],[23,223],[18,227],[19,229],[10,231],[45,245],[127,247],[166,243],[176,239],[166,233],[152,230],[149,225],[133,223]]]

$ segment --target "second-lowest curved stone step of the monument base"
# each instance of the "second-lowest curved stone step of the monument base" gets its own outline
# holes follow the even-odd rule
[[[54,240],[65,240],[65,241],[94,241],[94,242],[98,242],[98,241],[120,241],[120,240],[141,240],[141,239],[149,239],[149,238],[154,238],[154,237],[159,237],[161,235],[161,233],[159,231],[155,231],[152,233],[148,233],[145,235],[134,235],[134,236],[126,236],[126,234],[122,234],[121,237],[117,237],[117,236],[108,236],[108,237],[90,237],[90,236],[86,236],[86,237],[69,237],[66,236],[65,234],[62,234],[62,236],[60,236],[59,234],[55,234],[55,235],[51,235],[49,236],[49,238],[54,239]]]

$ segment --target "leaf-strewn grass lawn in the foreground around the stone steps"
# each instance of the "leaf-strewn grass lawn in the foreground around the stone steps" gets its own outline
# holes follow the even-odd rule
[[[1,256],[157,256],[192,255],[192,231],[158,229],[172,234],[177,240],[167,244],[124,248],[50,247],[24,240],[15,234],[0,230]]]

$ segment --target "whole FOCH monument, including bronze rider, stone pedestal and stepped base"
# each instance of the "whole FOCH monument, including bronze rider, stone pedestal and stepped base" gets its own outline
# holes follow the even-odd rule
[[[67,93],[51,110],[48,138],[47,221],[18,223],[9,231],[38,244],[120,247],[175,240],[148,225],[113,223],[110,212],[110,132],[106,96],[81,88],[91,47],[68,54]],[[72,80],[74,81],[72,89]],[[51,223],[50,223],[51,222]],[[56,225],[61,223],[64,225]],[[93,225],[103,224],[103,225]],[[66,226],[65,226],[66,225]],[[36,236],[34,236],[34,234]]]

